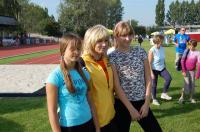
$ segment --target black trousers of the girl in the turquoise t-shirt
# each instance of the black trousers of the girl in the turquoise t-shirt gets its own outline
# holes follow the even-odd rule
[[[93,120],[89,120],[88,122],[72,127],[60,127],[61,132],[95,132],[95,126]]]

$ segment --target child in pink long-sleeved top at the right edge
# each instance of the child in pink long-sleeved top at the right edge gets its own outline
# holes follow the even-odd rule
[[[190,93],[190,102],[196,103],[194,99],[195,92],[195,74],[196,79],[200,77],[200,51],[196,50],[197,41],[190,40],[189,48],[185,50],[181,59],[182,74],[184,77],[184,88],[181,91],[179,103],[184,103],[184,95]],[[198,64],[197,72],[196,65]]]

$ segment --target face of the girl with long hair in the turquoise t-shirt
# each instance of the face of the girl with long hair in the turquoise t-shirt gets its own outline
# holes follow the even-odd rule
[[[81,55],[81,48],[80,47],[77,48],[74,45],[69,44],[64,53],[64,61],[66,64],[78,61],[80,55]]]

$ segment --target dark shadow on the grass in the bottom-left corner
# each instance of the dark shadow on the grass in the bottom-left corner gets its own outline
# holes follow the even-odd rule
[[[0,117],[0,126],[0,132],[24,132],[24,128],[21,125],[2,117]]]

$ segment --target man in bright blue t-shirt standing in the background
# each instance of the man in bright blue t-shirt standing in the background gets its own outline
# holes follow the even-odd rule
[[[190,40],[190,37],[185,34],[186,28],[182,27],[180,29],[180,33],[176,34],[174,37],[174,44],[176,46],[176,59],[175,59],[175,68],[177,71],[181,70],[181,57],[183,55],[184,50],[187,47],[187,43]]]

